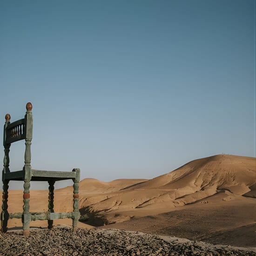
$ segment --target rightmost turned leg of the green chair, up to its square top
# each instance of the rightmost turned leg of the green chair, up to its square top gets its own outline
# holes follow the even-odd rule
[[[73,231],[77,229],[77,224],[80,217],[79,212],[79,180],[80,180],[80,169],[73,169],[76,172],[76,177],[73,179]]]

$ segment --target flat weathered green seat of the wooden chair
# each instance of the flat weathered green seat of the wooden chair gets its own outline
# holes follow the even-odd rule
[[[58,171],[43,171],[31,170],[31,181],[62,181],[75,178],[75,172],[58,172]],[[24,171],[16,171],[5,173],[4,180],[22,181],[24,180]]]

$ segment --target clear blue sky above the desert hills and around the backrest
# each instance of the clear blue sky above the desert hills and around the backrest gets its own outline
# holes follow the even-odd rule
[[[31,101],[32,167],[102,181],[255,157],[255,13],[255,0],[2,0],[2,125]],[[24,141],[10,156],[20,170]]]

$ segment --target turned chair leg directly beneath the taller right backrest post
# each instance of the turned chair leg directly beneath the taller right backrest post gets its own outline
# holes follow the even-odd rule
[[[24,191],[23,191],[23,236],[29,235],[30,226],[30,213],[29,213],[29,198],[30,198],[30,180],[24,180]]]

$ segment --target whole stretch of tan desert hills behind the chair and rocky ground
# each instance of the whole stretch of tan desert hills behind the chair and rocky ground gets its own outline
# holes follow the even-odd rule
[[[55,212],[72,210],[72,193],[72,187],[55,190]],[[22,211],[21,198],[22,190],[9,192],[9,212]],[[31,190],[30,202],[30,211],[47,211],[47,191]],[[84,229],[136,231],[256,252],[256,158],[214,155],[151,180],[84,179],[80,212]],[[20,219],[11,219],[7,233],[21,226]],[[31,227],[47,227],[47,221]]]

